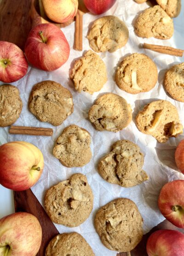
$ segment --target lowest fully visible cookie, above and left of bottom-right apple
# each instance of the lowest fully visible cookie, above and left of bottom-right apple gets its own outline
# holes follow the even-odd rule
[[[143,237],[143,219],[136,204],[118,198],[101,207],[95,216],[95,228],[102,243],[110,250],[127,252]]]

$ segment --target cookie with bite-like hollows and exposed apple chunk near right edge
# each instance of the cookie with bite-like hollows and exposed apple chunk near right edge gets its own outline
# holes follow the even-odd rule
[[[136,125],[140,132],[152,135],[161,143],[183,133],[177,108],[167,100],[145,105],[136,116]]]

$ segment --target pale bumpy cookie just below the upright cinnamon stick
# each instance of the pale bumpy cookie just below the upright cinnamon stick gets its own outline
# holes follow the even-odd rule
[[[104,61],[95,52],[87,51],[84,57],[75,61],[69,77],[79,93],[81,91],[90,94],[98,92],[107,81]]]

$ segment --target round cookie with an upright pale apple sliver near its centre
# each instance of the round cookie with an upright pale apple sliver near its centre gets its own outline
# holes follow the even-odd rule
[[[155,63],[145,54],[133,53],[125,58],[115,74],[115,82],[127,93],[150,91],[158,79]]]

